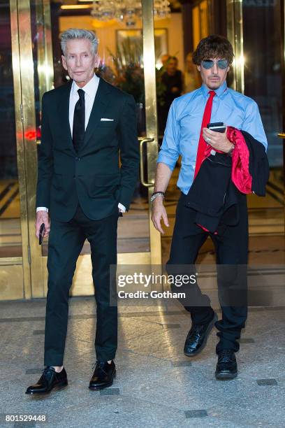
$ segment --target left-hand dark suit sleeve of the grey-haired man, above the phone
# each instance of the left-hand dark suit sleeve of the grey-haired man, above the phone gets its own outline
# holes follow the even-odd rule
[[[42,99],[41,144],[38,150],[36,206],[50,208],[50,185],[53,173],[52,134],[47,114],[47,94]]]

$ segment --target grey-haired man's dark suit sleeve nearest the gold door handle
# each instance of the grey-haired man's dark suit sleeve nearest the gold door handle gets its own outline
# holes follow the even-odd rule
[[[129,210],[131,198],[138,181],[140,162],[136,103],[131,95],[126,97],[119,120],[119,149],[121,159],[119,203],[124,205],[126,210]]]

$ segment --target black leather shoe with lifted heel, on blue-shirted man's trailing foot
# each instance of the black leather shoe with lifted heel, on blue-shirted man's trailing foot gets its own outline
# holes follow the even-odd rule
[[[218,315],[214,312],[212,320],[207,324],[192,324],[184,345],[184,354],[187,357],[193,357],[205,348],[207,338],[217,320]]]

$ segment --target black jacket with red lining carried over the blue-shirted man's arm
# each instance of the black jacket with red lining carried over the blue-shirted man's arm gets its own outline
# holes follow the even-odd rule
[[[269,164],[263,144],[248,132],[241,131],[249,150],[249,173],[251,191],[265,196],[265,186],[269,178]],[[196,212],[196,223],[214,232],[220,224],[235,225],[239,221],[238,202],[246,204],[245,194],[235,187],[231,180],[232,159],[217,153],[207,157],[187,196],[185,206]]]

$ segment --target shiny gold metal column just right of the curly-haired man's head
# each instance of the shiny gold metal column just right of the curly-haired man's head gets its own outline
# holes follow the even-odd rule
[[[244,93],[244,51],[242,29],[242,0],[227,0],[227,32],[228,40],[233,45],[233,89]]]

